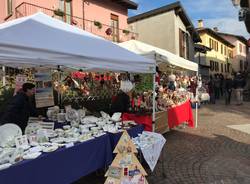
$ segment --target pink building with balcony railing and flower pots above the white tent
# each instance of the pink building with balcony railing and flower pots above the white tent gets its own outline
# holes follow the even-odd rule
[[[128,31],[130,0],[1,0],[0,23],[38,11],[115,42],[136,39]]]

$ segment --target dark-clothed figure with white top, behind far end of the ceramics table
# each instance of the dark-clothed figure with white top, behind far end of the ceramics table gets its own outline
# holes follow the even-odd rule
[[[111,114],[115,112],[128,112],[130,106],[130,97],[133,84],[130,81],[121,81],[120,90],[111,104]]]

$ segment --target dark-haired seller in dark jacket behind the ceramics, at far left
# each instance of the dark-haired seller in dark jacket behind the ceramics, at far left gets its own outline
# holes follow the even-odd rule
[[[24,83],[22,89],[8,103],[0,118],[0,123],[15,123],[24,132],[29,116],[35,114],[35,110],[29,101],[29,97],[33,96],[34,93],[35,85]]]

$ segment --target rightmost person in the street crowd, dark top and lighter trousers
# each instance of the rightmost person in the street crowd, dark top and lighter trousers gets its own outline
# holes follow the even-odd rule
[[[236,105],[243,104],[243,91],[244,91],[245,85],[246,85],[245,79],[240,73],[237,73],[235,80],[234,80],[234,88],[236,90],[236,98],[237,98]]]

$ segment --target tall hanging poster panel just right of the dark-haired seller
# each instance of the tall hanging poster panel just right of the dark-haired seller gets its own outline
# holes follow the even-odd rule
[[[54,106],[53,86],[51,73],[40,71],[35,74],[36,81],[36,108]]]

